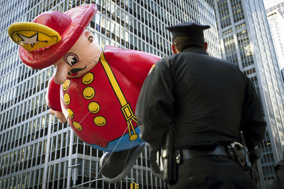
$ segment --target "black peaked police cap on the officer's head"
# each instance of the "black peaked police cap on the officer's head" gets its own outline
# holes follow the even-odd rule
[[[208,25],[201,25],[195,22],[185,22],[182,24],[178,24],[175,26],[166,27],[167,30],[172,32],[172,40],[176,37],[184,36],[184,35],[196,35],[203,36],[203,30],[209,29]]]

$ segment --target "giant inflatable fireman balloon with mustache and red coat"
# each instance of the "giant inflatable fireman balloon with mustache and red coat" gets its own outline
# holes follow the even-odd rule
[[[56,67],[46,96],[50,113],[62,123],[67,120],[85,143],[106,151],[101,171],[106,182],[116,183],[146,145],[138,137],[135,106],[144,79],[160,57],[98,45],[85,31],[96,12],[95,4],[43,12],[32,22],[12,24],[8,34],[21,45],[25,65]]]

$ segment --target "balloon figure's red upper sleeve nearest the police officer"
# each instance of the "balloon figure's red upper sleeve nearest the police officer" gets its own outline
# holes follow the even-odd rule
[[[106,50],[104,55],[110,66],[139,85],[143,84],[151,66],[161,59],[159,56],[138,50]]]

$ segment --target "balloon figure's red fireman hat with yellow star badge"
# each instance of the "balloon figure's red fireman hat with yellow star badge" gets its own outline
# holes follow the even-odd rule
[[[77,6],[66,12],[48,11],[32,22],[17,22],[8,28],[12,41],[20,44],[21,61],[32,69],[56,63],[76,43],[98,8],[95,4]]]

